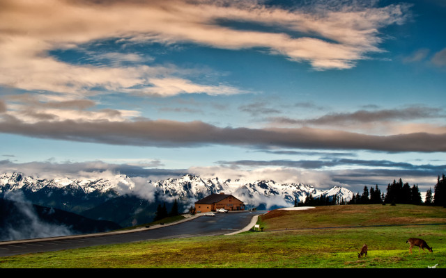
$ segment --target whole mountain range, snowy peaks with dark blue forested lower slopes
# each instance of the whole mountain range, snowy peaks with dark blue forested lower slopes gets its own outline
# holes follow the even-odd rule
[[[95,220],[115,222],[121,227],[151,222],[159,204],[170,206],[177,199],[180,212],[212,193],[232,194],[246,208],[274,209],[293,206],[312,197],[337,197],[345,201],[353,192],[334,186],[319,190],[302,183],[272,180],[245,181],[203,178],[194,174],[151,181],[116,174],[97,179],[40,179],[20,172],[0,174],[0,198],[20,194],[26,202],[77,213]]]

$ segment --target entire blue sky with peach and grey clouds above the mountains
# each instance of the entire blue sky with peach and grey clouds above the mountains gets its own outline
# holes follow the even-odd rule
[[[446,173],[446,2],[0,0],[0,172],[362,192]]]

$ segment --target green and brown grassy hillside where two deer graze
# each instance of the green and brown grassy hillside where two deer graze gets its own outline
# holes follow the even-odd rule
[[[260,222],[263,232],[10,256],[0,268],[446,268],[446,208],[321,206],[271,211]],[[410,237],[433,253],[409,254]],[[369,256],[358,259],[364,243]]]

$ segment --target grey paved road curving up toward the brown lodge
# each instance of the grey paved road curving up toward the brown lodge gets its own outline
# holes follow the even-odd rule
[[[185,238],[192,236],[217,236],[249,229],[253,218],[264,211],[245,211],[236,213],[215,213],[214,217],[199,216],[178,224],[158,225],[148,229],[126,231],[123,233],[102,233],[34,240],[15,240],[0,242],[0,256],[13,256],[38,252],[68,250],[94,245],[130,243],[158,238]]]

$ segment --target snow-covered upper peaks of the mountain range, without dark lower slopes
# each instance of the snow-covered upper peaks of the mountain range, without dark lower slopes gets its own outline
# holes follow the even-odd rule
[[[302,183],[276,183],[272,180],[244,181],[220,180],[217,177],[203,178],[193,174],[186,174],[179,178],[169,178],[160,181],[144,180],[123,174],[99,179],[39,179],[25,176],[21,173],[8,173],[0,175],[0,197],[7,193],[21,190],[27,195],[32,193],[45,193],[48,197],[58,192],[57,199],[70,202],[68,197],[81,197],[89,199],[95,197],[112,198],[118,195],[136,195],[141,199],[180,200],[183,204],[194,204],[197,200],[212,193],[232,194],[245,202],[247,206],[266,204],[271,206],[290,206],[295,198],[298,202],[305,201],[308,195],[312,197],[339,196],[348,201],[353,193],[339,186],[328,190],[318,190],[313,186]],[[40,195],[41,197],[42,195]],[[64,201],[63,201],[64,202]],[[63,206],[61,206],[63,208]]]

